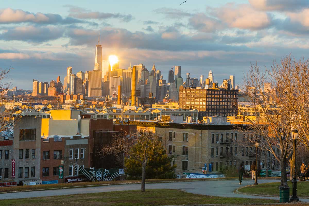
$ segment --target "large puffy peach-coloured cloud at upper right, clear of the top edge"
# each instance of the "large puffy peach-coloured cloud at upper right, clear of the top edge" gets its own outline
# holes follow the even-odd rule
[[[213,9],[212,13],[231,28],[258,30],[267,28],[272,23],[271,15],[256,11],[248,4],[227,3]]]

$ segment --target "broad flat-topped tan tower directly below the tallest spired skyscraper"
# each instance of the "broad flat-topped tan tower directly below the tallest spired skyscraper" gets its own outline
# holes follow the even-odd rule
[[[88,96],[102,96],[102,71],[89,71]]]

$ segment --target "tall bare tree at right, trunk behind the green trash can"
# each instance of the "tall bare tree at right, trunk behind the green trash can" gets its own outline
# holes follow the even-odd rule
[[[259,148],[269,151],[280,163],[282,189],[288,188],[286,167],[293,154],[290,131],[295,125],[295,115],[290,107],[294,108],[292,99],[298,93],[298,80],[294,76],[298,63],[291,56],[273,61],[271,69],[260,69],[255,63],[243,81],[255,116],[247,119],[252,126],[246,139],[252,147],[258,141]]]

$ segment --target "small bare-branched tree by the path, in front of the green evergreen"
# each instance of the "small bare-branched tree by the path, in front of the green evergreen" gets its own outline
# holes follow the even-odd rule
[[[156,135],[153,135],[147,131],[141,131],[137,133],[126,133],[117,135],[113,138],[109,145],[106,145],[99,152],[99,155],[103,157],[113,154],[113,155],[127,155],[133,158],[142,165],[142,185],[141,191],[145,191],[145,178],[146,178],[146,166],[149,161],[151,151],[155,149],[158,145],[159,139]],[[138,144],[141,146],[138,150],[133,150],[132,146]]]

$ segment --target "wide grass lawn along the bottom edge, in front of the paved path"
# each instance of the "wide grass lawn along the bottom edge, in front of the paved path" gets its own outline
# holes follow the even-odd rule
[[[155,189],[141,191],[116,191],[78,195],[62,195],[40,198],[1,200],[2,206],[9,205],[104,205],[104,206],[139,206],[139,205],[175,205],[175,204],[259,204],[278,203],[278,200],[227,198],[187,193],[181,190]]]

